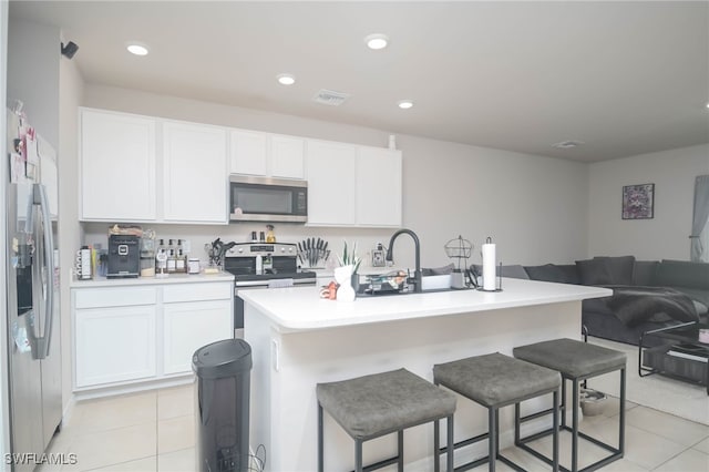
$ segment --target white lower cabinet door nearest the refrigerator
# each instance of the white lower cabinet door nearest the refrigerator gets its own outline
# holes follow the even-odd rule
[[[75,310],[76,388],[154,377],[155,306]]]

